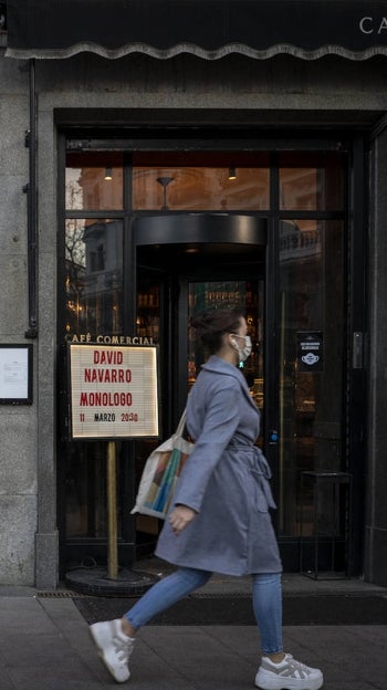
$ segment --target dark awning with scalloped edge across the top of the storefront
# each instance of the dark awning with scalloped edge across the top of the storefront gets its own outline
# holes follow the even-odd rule
[[[230,53],[315,60],[387,54],[387,3],[374,0],[8,0],[11,58],[167,59]]]

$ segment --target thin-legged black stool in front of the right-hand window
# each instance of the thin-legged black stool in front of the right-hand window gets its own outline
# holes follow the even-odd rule
[[[304,511],[306,483],[313,488],[313,567],[304,567]],[[328,491],[330,501],[325,508],[331,509],[332,520],[322,512],[323,492]],[[344,494],[344,495],[343,495]],[[344,506],[343,506],[344,501]],[[301,472],[301,541],[300,541],[300,573],[313,579],[343,579],[351,577],[351,505],[352,505],[352,475],[347,472]],[[344,509],[344,524],[341,529],[341,510]],[[344,541],[346,563],[344,574],[335,571],[335,551],[338,540]],[[328,576],[318,575],[320,552],[322,544],[328,542],[331,546],[331,569]],[[326,571],[325,571],[326,572]]]

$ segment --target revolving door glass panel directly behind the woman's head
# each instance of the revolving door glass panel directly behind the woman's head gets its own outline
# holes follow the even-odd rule
[[[258,407],[263,407],[263,280],[192,282],[188,286],[189,316],[208,309],[239,309],[245,315],[252,352],[243,374]],[[207,359],[194,334],[188,341],[188,384],[194,385]]]

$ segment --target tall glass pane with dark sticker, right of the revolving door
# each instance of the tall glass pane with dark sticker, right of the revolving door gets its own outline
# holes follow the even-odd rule
[[[343,469],[343,247],[341,221],[281,223],[279,529],[284,536],[300,533],[301,472]],[[312,534],[308,499],[304,535]]]

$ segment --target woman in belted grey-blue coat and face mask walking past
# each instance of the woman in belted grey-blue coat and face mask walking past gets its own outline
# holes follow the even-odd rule
[[[129,679],[136,632],[205,585],[213,572],[252,576],[261,637],[255,686],[261,690],[318,690],[323,675],[293,659],[282,645],[282,564],[269,513],[275,508],[271,472],[254,446],[260,412],[238,368],[251,352],[238,311],[215,310],[190,324],[210,357],[187,402],[195,449],[186,461],[156,555],[177,566],[122,619],[91,626],[98,652],[117,682]]]

